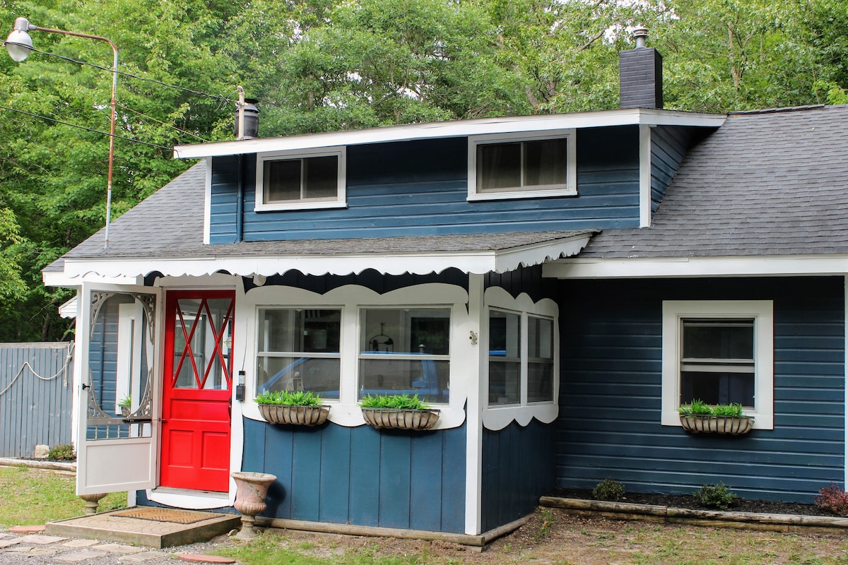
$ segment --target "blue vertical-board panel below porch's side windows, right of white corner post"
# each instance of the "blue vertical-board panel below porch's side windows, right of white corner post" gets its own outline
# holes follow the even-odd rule
[[[527,516],[554,489],[554,426],[483,429],[483,531]]]

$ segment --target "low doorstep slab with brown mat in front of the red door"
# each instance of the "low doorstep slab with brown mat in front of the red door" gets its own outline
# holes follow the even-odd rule
[[[132,507],[48,522],[45,533],[162,549],[211,540],[240,526],[239,514]]]

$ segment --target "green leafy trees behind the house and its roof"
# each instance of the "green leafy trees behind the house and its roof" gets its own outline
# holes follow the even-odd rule
[[[5,30],[24,16],[118,45],[124,74],[113,217],[187,169],[191,163],[171,158],[173,145],[232,138],[237,85],[259,98],[263,136],[616,108],[617,53],[633,47],[630,30],[646,25],[650,46],[664,56],[666,108],[848,102],[848,0],[0,6]],[[111,50],[89,39],[31,35],[43,53],[22,64],[0,57],[4,341],[65,335],[71,326],[56,310],[72,292],[45,289],[40,271],[105,218]]]

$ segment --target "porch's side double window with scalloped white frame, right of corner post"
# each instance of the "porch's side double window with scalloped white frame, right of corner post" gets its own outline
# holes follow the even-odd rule
[[[550,298],[539,302],[513,297],[499,287],[485,293],[485,402],[483,424],[502,429],[532,418],[546,424],[559,413],[558,308]]]

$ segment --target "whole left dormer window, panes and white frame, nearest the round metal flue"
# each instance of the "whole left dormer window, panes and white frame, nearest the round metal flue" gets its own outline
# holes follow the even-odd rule
[[[259,154],[255,209],[343,208],[346,154],[344,147]]]

